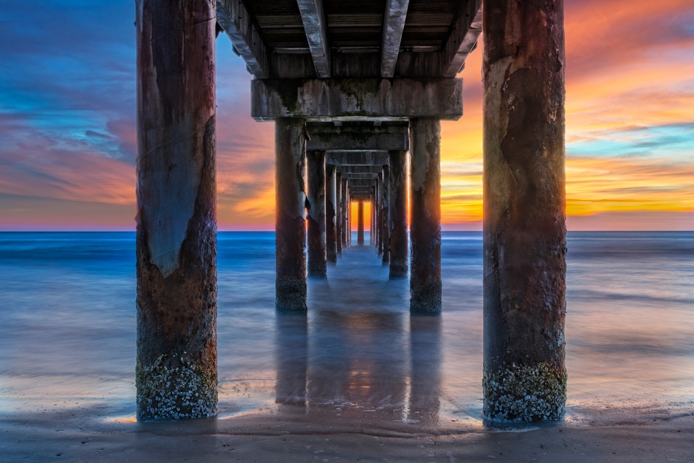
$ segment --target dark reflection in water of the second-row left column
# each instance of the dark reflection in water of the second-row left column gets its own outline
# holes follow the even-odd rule
[[[302,313],[277,312],[276,403],[306,405],[307,320]]]

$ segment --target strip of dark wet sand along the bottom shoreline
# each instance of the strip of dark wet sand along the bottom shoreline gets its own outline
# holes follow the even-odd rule
[[[0,419],[2,462],[691,462],[694,415],[539,428],[421,429],[253,413],[178,423],[99,410]]]

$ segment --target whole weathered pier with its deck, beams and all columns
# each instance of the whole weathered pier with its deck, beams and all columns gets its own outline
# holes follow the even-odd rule
[[[375,259],[409,278],[416,317],[441,312],[440,121],[462,117],[456,75],[482,30],[484,414],[563,417],[561,1],[136,8],[138,419],[216,412],[217,35],[251,74],[250,116],[275,124],[276,308],[309,310],[307,276],[339,267],[352,224],[365,246],[369,219]]]

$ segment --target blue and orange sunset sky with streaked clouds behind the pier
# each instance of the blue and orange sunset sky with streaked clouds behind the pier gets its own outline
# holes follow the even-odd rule
[[[568,229],[694,230],[694,2],[565,5]],[[134,1],[0,0],[0,230],[135,229],[134,19]],[[481,48],[441,124],[444,230],[481,230]],[[220,230],[273,229],[250,87],[220,35]]]

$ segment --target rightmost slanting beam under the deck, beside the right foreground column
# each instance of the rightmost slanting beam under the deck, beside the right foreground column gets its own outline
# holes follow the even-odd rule
[[[465,60],[477,47],[482,33],[482,0],[468,0],[455,22],[446,47],[443,48],[443,76],[455,77],[465,66]]]

